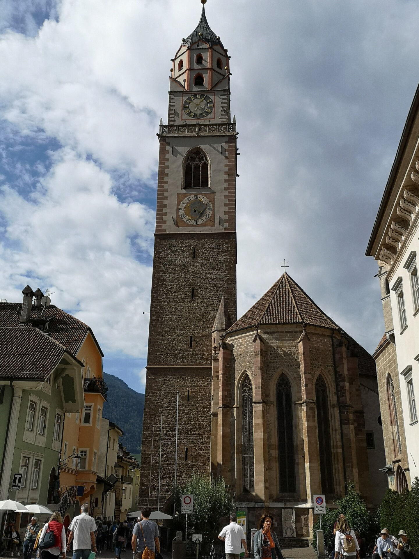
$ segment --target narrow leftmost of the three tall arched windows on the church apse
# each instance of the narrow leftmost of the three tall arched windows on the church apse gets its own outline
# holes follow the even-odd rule
[[[243,491],[255,490],[255,460],[253,450],[253,386],[246,375],[241,388],[243,419]]]

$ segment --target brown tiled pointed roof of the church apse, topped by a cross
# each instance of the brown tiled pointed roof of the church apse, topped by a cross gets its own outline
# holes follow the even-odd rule
[[[287,273],[228,332],[253,328],[259,324],[310,324],[339,328]]]

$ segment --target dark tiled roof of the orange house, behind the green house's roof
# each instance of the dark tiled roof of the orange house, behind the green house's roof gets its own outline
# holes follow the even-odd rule
[[[0,326],[18,326],[21,307],[22,304],[19,303],[0,303]],[[32,306],[30,320],[40,319],[42,310],[44,310],[43,306]],[[47,329],[48,335],[59,344],[64,345],[74,355],[77,354],[88,331],[91,331],[94,338],[93,332],[87,324],[54,305],[46,308],[42,318],[50,319]],[[31,323],[28,323],[25,324],[24,329],[31,327]],[[99,344],[97,345],[99,347]]]

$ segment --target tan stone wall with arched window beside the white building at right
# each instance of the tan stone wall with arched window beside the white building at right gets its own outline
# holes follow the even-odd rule
[[[395,458],[400,458],[400,465],[406,473],[407,482],[410,486],[410,472],[408,471],[409,462],[407,458],[406,438],[404,437],[404,421],[402,411],[402,399],[400,394],[400,378],[398,375],[396,346],[393,343],[387,345],[386,348],[375,358],[377,366],[378,394],[380,398],[381,421],[383,425],[385,463],[391,463]],[[394,384],[394,394],[396,395],[396,405],[398,414],[398,423],[400,431],[400,439],[402,443],[402,454],[397,456],[394,452],[393,434],[390,418],[390,408],[387,397],[387,378],[391,375]],[[396,489],[394,476],[389,479],[389,486]]]

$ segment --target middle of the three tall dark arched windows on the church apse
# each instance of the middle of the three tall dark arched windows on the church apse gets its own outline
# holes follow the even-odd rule
[[[291,385],[285,375],[277,382],[279,490],[296,492]]]

